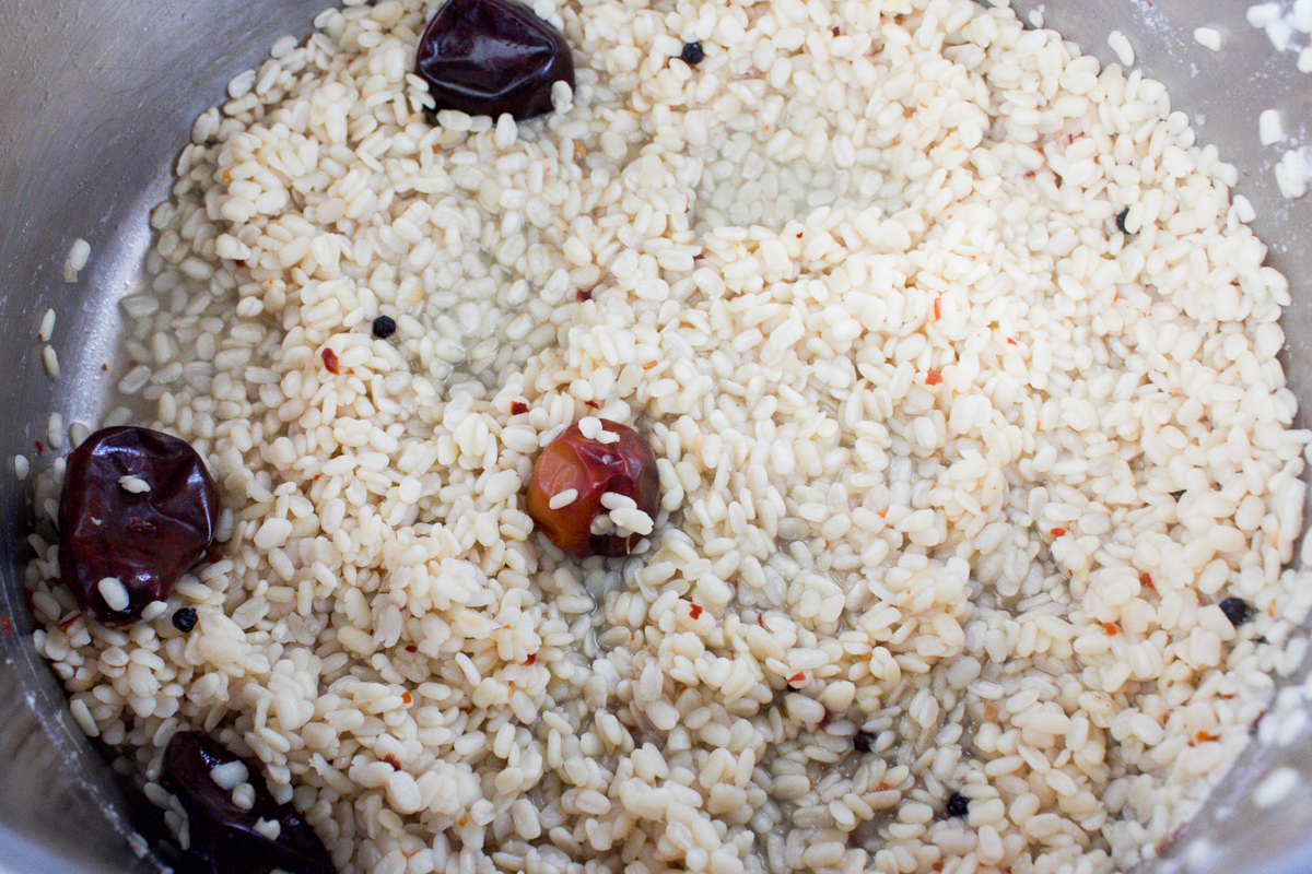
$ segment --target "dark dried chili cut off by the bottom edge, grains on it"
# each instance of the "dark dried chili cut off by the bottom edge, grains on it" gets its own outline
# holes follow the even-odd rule
[[[291,805],[279,805],[256,763],[241,759],[255,789],[255,806],[241,810],[230,791],[219,788],[210,772],[237,761],[227,747],[201,731],[178,731],[164,750],[164,786],[177,795],[186,811],[192,845],[189,853],[210,874],[335,874],[323,841]],[[261,820],[277,820],[277,840],[255,831]]]

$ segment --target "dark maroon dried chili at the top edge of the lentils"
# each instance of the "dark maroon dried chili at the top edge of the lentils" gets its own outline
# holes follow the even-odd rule
[[[551,111],[551,85],[573,88],[564,35],[516,0],[447,0],[419,43],[419,75],[437,110],[468,115]]]

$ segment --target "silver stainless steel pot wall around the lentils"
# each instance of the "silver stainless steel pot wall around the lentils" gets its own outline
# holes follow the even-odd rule
[[[1005,0],[994,0],[1002,1]],[[1286,0],[1286,5],[1287,5]],[[33,651],[22,587],[30,497],[12,472],[14,453],[35,456],[51,411],[64,422],[102,413],[122,325],[115,301],[150,244],[147,214],[167,195],[172,162],[192,123],[223,85],[266,56],[278,37],[304,35],[325,0],[7,0],[0,26],[0,871],[151,871],[130,845],[109,768],[64,708],[54,676]],[[1017,0],[1042,10],[1085,51],[1115,58],[1119,29],[1145,75],[1194,115],[1202,142],[1239,166],[1239,193],[1270,263],[1290,276],[1286,312],[1290,387],[1312,410],[1312,197],[1290,203],[1275,189],[1281,148],[1261,147],[1257,115],[1286,110],[1286,130],[1312,142],[1312,76],[1277,55],[1244,21],[1237,0]],[[1193,31],[1227,33],[1220,52]],[[91,241],[76,283],[62,280],[70,244]],[[54,345],[63,377],[51,383],[35,341],[41,314],[59,312]],[[101,364],[109,366],[102,371]],[[1304,417],[1307,413],[1304,413]],[[43,461],[49,463],[47,449]],[[38,463],[42,460],[38,459]],[[1302,679],[1307,670],[1298,672]],[[1250,793],[1274,768],[1304,781],[1281,806],[1258,810]],[[1198,839],[1206,841],[1199,843]],[[136,841],[138,846],[140,843]],[[1210,846],[1210,852],[1199,852]],[[1252,744],[1204,812],[1156,871],[1312,870],[1312,729],[1291,746]]]

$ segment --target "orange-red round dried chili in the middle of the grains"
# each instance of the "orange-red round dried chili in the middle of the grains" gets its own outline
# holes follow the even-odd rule
[[[601,419],[606,431],[618,434],[617,443],[585,438],[577,425],[569,426],[538,456],[529,481],[529,515],[562,550],[588,556],[618,557],[632,552],[638,535],[593,535],[592,520],[605,512],[601,495],[607,491],[632,498],[638,508],[656,518],[660,498],[660,474],[656,453],[646,439],[631,427]],[[559,510],[550,506],[551,497],[576,489],[579,497]]]

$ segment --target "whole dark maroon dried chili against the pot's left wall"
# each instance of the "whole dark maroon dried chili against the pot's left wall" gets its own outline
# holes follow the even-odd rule
[[[127,491],[135,476],[151,486]],[[164,600],[177,578],[205,556],[219,520],[219,495],[205,461],[186,442],[159,431],[97,431],[68,455],[59,498],[59,574],[79,603],[121,625]],[[115,577],[130,603],[113,611],[98,583]]]

